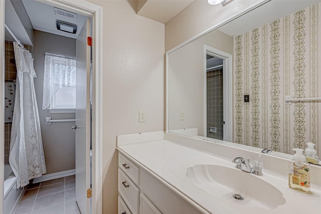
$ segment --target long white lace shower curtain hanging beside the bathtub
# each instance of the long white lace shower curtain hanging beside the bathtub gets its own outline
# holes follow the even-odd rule
[[[33,58],[14,42],[17,86],[12,122],[9,163],[17,177],[17,188],[47,172],[34,87]]]

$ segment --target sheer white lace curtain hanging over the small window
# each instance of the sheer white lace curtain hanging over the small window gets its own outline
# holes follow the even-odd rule
[[[63,86],[76,87],[76,60],[46,53],[42,109],[50,106],[52,96]]]

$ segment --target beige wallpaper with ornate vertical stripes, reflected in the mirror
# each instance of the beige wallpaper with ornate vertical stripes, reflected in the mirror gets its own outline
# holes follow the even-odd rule
[[[293,154],[311,141],[321,155],[321,103],[284,100],[321,97],[320,10],[314,5],[234,38],[233,142]]]

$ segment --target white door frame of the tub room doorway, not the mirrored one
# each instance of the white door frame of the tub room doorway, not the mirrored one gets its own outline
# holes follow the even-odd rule
[[[102,7],[82,0],[37,0],[92,18],[92,213],[102,213]],[[0,1],[0,136],[4,136],[5,88],[5,1]],[[4,137],[0,146],[4,148]],[[4,149],[0,149],[0,177],[4,177]],[[4,182],[0,192],[4,191]],[[3,212],[4,195],[0,193],[0,212]]]

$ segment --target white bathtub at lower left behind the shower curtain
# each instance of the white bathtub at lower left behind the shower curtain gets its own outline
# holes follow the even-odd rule
[[[5,164],[4,181],[4,214],[14,213],[25,188],[17,189],[17,178],[12,171],[10,164]]]

